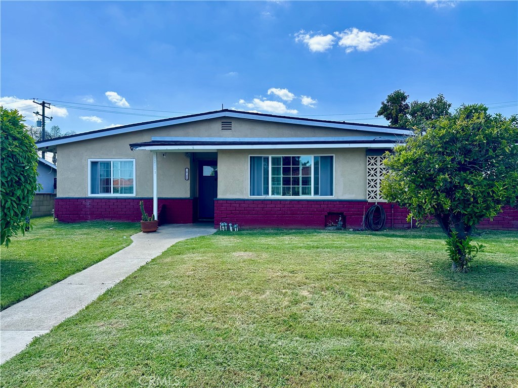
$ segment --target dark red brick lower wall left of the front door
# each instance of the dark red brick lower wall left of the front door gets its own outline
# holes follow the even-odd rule
[[[63,222],[91,220],[140,221],[140,201],[144,210],[153,213],[153,200],[140,198],[56,198],[54,214]],[[195,219],[195,200],[192,198],[159,198],[159,214],[165,205],[161,223],[192,223]]]

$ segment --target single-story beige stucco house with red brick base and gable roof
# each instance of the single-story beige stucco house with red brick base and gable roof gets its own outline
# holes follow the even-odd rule
[[[362,226],[383,153],[406,128],[219,111],[40,141],[56,152],[60,221],[138,221],[139,202],[161,223],[213,220],[240,227]],[[383,203],[387,227],[407,212]]]

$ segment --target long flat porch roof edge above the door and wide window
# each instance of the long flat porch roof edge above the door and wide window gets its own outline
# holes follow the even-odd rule
[[[361,144],[364,147],[392,147],[404,140],[397,135],[311,137],[311,138],[180,138],[152,137],[151,141],[130,144],[132,150],[236,150],[264,148],[297,148],[301,145],[314,148],[347,147]]]

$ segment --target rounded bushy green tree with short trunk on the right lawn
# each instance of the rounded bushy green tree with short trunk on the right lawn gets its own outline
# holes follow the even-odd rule
[[[396,145],[384,161],[383,198],[407,207],[409,220],[437,221],[455,271],[467,272],[481,247],[471,244],[474,227],[517,203],[517,123],[484,105],[462,106]]]

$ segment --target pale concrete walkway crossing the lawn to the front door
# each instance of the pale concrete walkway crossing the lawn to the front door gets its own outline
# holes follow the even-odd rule
[[[109,258],[0,312],[0,363],[21,352],[34,337],[73,316],[100,294],[187,238],[214,233],[210,224],[163,225],[131,236],[133,244]]]

